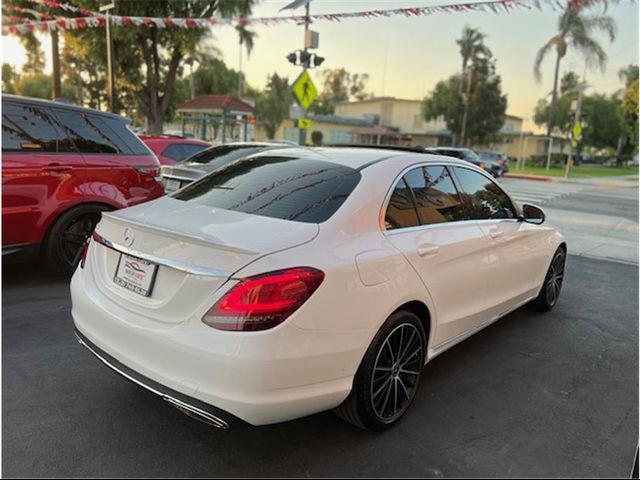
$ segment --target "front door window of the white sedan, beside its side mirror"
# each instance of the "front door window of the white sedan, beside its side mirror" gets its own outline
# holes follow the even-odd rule
[[[516,217],[511,200],[491,179],[468,168],[454,167],[454,171],[470,220]]]

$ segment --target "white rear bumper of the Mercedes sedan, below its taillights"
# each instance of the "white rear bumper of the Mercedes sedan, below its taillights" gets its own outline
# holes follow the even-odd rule
[[[362,358],[359,331],[314,332],[285,322],[265,332],[237,333],[215,330],[199,318],[170,324],[142,317],[104,295],[86,269],[74,274],[71,298],[85,345],[118,363],[97,355],[103,362],[134,381],[142,378],[142,386],[163,398],[229,425],[234,422],[220,412],[258,426],[338,406]]]

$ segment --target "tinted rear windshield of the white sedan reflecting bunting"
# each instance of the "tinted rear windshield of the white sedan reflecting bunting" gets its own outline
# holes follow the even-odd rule
[[[241,159],[178,191],[174,198],[265,217],[321,223],[344,203],[360,172],[292,157]]]

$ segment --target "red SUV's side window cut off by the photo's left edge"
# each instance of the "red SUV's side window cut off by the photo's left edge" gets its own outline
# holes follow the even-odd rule
[[[76,150],[46,107],[4,103],[2,151],[60,153]]]

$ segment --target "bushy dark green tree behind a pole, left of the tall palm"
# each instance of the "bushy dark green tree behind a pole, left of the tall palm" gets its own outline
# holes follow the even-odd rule
[[[461,40],[469,35],[467,29],[468,27],[463,31]],[[447,80],[438,82],[433,92],[424,99],[422,113],[427,121],[443,117],[449,131],[460,138],[465,109],[464,95],[468,87],[466,143],[482,145],[492,141],[504,125],[507,97],[502,93],[501,79],[496,74],[491,51],[482,44],[476,43],[475,47],[476,53],[469,54],[464,64],[467,71],[472,69],[471,82],[467,83],[469,75],[452,75]],[[461,55],[464,55],[462,51],[461,46]]]

